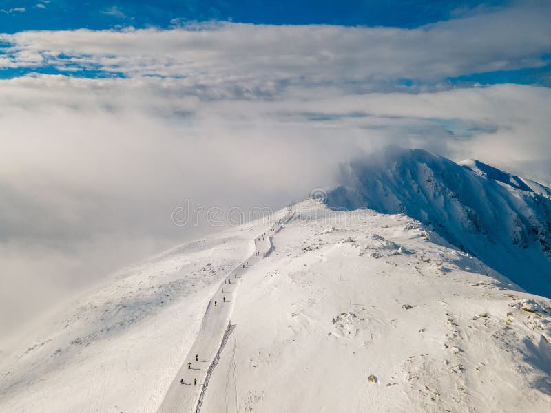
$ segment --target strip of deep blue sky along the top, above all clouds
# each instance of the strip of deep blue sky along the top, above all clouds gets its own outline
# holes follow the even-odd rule
[[[171,0],[171,1],[0,1],[3,32],[104,29],[133,25],[168,28],[174,19],[255,24],[331,24],[415,28],[473,12],[506,7],[493,0]],[[24,10],[24,11],[23,11]]]

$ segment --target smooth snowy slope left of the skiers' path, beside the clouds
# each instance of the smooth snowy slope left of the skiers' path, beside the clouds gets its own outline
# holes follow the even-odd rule
[[[268,226],[253,222],[126,268],[17,345],[3,343],[0,412],[154,412],[220,280]]]

